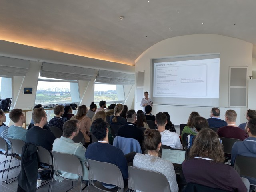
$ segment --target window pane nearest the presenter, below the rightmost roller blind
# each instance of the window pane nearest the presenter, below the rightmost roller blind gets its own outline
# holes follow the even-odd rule
[[[107,103],[123,103],[125,100],[123,85],[95,84],[94,85],[94,102],[100,101]]]

